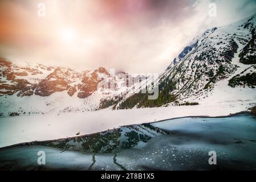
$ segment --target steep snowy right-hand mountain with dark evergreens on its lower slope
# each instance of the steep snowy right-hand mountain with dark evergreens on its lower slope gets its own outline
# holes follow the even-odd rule
[[[148,101],[135,94],[119,102],[117,108],[197,105],[212,95],[212,101],[221,98],[220,89],[225,90],[225,94],[256,93],[255,28],[256,15],[253,15],[206,30],[194,38],[152,84],[159,85],[157,100]]]

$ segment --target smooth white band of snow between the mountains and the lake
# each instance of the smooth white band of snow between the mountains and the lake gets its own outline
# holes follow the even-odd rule
[[[117,128],[124,125],[152,123],[179,117],[220,117],[247,111],[255,100],[234,100],[197,106],[155,107],[131,110],[88,111],[84,113],[38,114],[0,118],[0,147],[32,142],[76,137]]]

